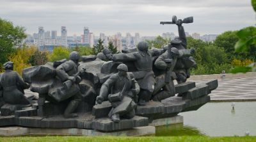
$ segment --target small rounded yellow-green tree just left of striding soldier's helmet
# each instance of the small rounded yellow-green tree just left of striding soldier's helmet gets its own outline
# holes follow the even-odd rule
[[[50,61],[58,61],[60,59],[68,59],[70,51],[66,47],[55,47],[49,56]]]

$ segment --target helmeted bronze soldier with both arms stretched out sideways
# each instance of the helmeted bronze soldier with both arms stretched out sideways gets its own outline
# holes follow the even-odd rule
[[[104,49],[106,50],[106,49]],[[134,78],[138,81],[140,85],[139,102],[138,105],[143,106],[145,102],[151,99],[152,93],[154,92],[154,84],[156,80],[154,78],[154,72],[152,70],[153,56],[159,56],[163,52],[163,49],[153,49],[148,51],[148,43],[140,42],[138,43],[138,51],[131,53],[120,53],[111,54],[109,52],[104,52],[109,60],[112,61],[132,61],[136,67],[136,71],[132,72]]]

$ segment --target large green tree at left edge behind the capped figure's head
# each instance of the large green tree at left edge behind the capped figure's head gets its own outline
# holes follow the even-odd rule
[[[8,61],[8,56],[15,52],[15,47],[19,47],[26,38],[24,31],[24,27],[13,26],[12,22],[0,18],[0,67]]]

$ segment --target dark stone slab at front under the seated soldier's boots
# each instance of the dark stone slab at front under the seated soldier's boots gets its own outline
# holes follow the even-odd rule
[[[148,125],[148,118],[141,116],[134,116],[131,119],[122,119],[120,122],[112,122],[109,118],[100,118],[93,122],[93,129],[101,130],[104,132],[131,129],[133,127],[141,127]]]

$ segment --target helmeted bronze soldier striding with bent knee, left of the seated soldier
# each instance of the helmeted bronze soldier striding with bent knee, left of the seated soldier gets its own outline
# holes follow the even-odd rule
[[[76,95],[72,97],[72,100],[68,103],[68,106],[65,109],[65,118],[74,118],[78,116],[74,111],[83,99],[78,84],[81,81],[78,71],[79,59],[79,53],[73,51],[69,55],[69,60],[56,68],[56,73],[65,85],[66,90],[70,88],[76,90]]]

